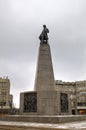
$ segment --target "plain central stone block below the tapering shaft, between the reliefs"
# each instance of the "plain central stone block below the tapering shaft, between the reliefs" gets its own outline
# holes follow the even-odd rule
[[[37,93],[37,112],[40,115],[58,115],[59,93],[55,91],[40,91]]]

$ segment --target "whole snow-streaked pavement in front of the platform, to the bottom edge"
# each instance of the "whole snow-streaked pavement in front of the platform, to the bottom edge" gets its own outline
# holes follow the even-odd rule
[[[0,121],[0,130],[86,130],[86,121],[59,124]]]

